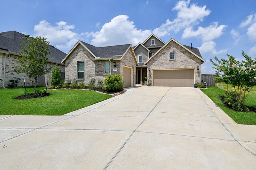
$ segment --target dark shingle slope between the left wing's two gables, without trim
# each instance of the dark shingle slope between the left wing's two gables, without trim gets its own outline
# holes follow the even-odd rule
[[[88,43],[81,41],[96,57],[103,58],[121,58],[131,44],[113,45],[108,47],[95,47]],[[115,55],[120,55],[113,57]]]

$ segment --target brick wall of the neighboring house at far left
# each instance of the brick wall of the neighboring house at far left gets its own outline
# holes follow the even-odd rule
[[[5,82],[3,82],[3,76],[4,76],[4,54],[0,53],[0,88],[3,87],[3,83],[5,87],[8,87],[9,84],[9,80],[14,80],[16,78],[20,78],[21,81],[18,83],[18,86],[23,86],[24,85],[24,81],[23,79],[25,78],[25,84],[26,86],[32,86],[33,84],[33,78],[30,78],[28,76],[26,76],[26,74],[24,73],[17,73],[14,71],[15,66],[18,66],[19,63],[18,61],[18,57],[16,55],[8,55],[8,57],[6,57],[6,68],[5,68]],[[51,65],[51,63],[47,64],[48,66]],[[56,64],[53,64],[52,66],[55,66]],[[64,65],[58,65],[58,67],[60,68],[60,72],[65,72],[65,66]]]

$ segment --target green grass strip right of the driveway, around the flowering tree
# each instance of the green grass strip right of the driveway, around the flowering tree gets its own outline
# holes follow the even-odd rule
[[[207,89],[201,89],[204,94],[206,94],[214,103],[216,103],[224,112],[226,112],[236,123],[246,124],[246,125],[256,125],[256,113],[254,112],[240,112],[234,111],[228,108],[222,103],[219,96],[225,93],[225,90],[222,90],[217,87],[208,87]],[[246,98],[246,103],[251,104],[252,101],[255,101],[255,94],[248,95]],[[253,106],[255,104],[252,104]]]

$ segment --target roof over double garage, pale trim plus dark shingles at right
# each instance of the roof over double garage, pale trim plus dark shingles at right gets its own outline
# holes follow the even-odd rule
[[[174,38],[171,38],[161,49],[159,49],[154,55],[152,55],[152,57],[150,57],[144,64],[147,64],[148,61],[150,61],[153,57],[155,57],[166,45],[168,45],[171,41],[174,41],[175,43],[177,43],[178,45],[180,45],[181,47],[183,47],[184,49],[186,49],[187,51],[189,51],[190,53],[192,53],[194,56],[198,57],[203,63],[206,61],[205,59],[202,58],[199,49],[194,48],[191,50],[191,47],[189,46],[184,46],[181,43],[179,43],[178,41],[176,41]],[[198,53],[198,54],[196,54]]]

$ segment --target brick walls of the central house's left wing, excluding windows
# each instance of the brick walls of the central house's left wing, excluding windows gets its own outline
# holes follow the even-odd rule
[[[104,80],[106,76],[109,74],[104,74],[104,61],[108,60],[100,60],[100,61],[93,61],[94,56],[89,53],[82,45],[78,45],[74,51],[70,54],[68,59],[66,59],[66,68],[65,68],[65,81],[67,79],[73,81],[77,79],[77,62],[84,61],[84,83],[86,86],[90,83],[92,78],[95,78],[96,84],[98,80]],[[131,60],[132,59],[132,60]],[[111,60],[113,63],[114,61]],[[126,55],[123,57],[121,61],[116,60],[116,67],[112,64],[112,74],[124,74],[123,66],[131,66],[134,67],[134,81],[135,81],[135,61],[132,57],[131,51],[128,51]],[[132,63],[132,64],[131,64]],[[114,68],[117,71],[114,71]],[[96,85],[95,84],[95,85]],[[134,82],[135,86],[135,82]]]

